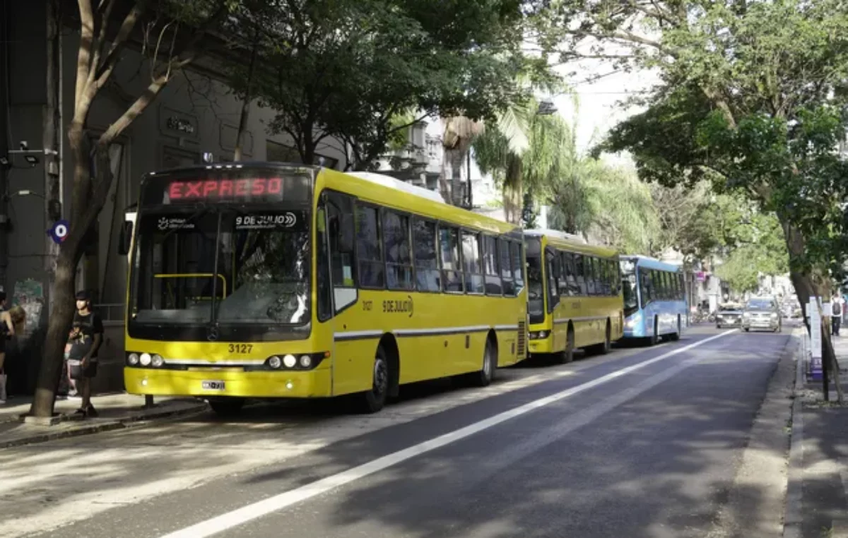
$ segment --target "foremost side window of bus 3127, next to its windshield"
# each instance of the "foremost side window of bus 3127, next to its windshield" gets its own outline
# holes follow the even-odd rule
[[[354,277],[353,198],[337,192],[328,192],[326,215],[330,239],[330,279],[338,313],[357,299]]]

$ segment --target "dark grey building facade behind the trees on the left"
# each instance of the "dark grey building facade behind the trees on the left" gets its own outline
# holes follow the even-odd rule
[[[80,33],[62,28],[59,37],[59,147],[56,163],[44,153],[45,125],[51,108],[47,81],[47,6],[45,2],[0,0],[0,286],[11,302],[28,313],[27,339],[10,352],[13,391],[31,389],[40,361],[38,342],[47,324],[50,283],[58,246],[48,230],[70,214],[74,163],[68,151],[67,126],[74,113],[75,69]],[[54,48],[56,50],[56,48]],[[112,190],[86,241],[77,286],[89,290],[107,324],[101,353],[100,390],[120,390],[123,363],[123,313],[126,301],[126,258],[117,254],[118,237],[128,208],[136,202],[142,175],[155,169],[199,164],[204,154],[215,161],[232,160],[242,103],[216,75],[211,62],[177,73],[159,97],[110,148]],[[150,80],[150,65],[128,47],[92,105],[89,136],[96,138],[120,117]],[[56,99],[54,99],[56,101]],[[254,103],[244,136],[243,160],[299,161],[287,136],[271,134],[274,111]],[[21,142],[29,153],[20,153]],[[17,152],[17,153],[16,153]],[[325,166],[343,169],[343,147],[328,141],[318,153]],[[31,164],[26,159],[37,159]],[[58,184],[61,207],[47,203],[51,180]],[[23,365],[21,364],[23,363]],[[16,378],[16,379],[12,379]],[[21,387],[24,387],[23,389]]]

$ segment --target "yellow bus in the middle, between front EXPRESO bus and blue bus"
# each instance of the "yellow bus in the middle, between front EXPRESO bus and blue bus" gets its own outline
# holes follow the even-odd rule
[[[605,354],[623,336],[618,255],[556,230],[526,230],[530,353],[569,363],[574,350]]]

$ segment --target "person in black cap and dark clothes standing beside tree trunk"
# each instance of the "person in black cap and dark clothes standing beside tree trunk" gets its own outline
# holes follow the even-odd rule
[[[92,405],[92,379],[98,374],[98,350],[103,343],[103,320],[92,312],[91,297],[86,291],[76,294],[74,324],[68,337],[68,371],[70,377],[81,385],[82,405],[76,410],[82,418],[95,418],[97,409]]]

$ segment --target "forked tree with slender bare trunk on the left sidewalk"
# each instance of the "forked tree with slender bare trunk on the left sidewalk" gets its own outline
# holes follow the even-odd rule
[[[220,24],[233,4],[232,0],[151,0],[128,4],[104,0],[95,6],[92,0],[78,0],[80,47],[74,115],[68,127],[70,153],[74,158],[70,230],[56,260],[53,309],[30,409],[33,416],[53,415],[64,343],[75,312],[75,270],[86,247],[86,237],[103,209],[113,180],[109,146],[153,103],[176,73],[198,57],[204,36]],[[139,36],[137,31],[142,25],[145,31]],[[145,42],[144,47],[151,53],[151,77],[147,88],[93,144],[90,143],[88,115],[92,103],[111,80],[128,43],[147,36],[155,36]]]

